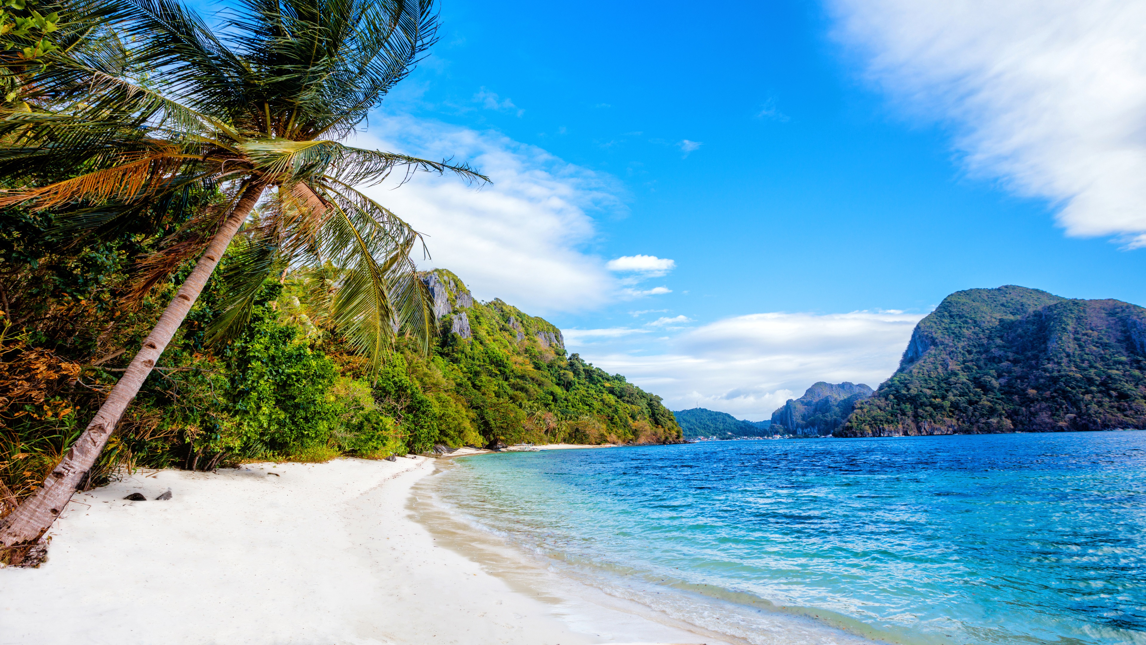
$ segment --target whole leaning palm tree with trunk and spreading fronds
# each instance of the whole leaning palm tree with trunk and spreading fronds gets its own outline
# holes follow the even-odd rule
[[[63,210],[86,235],[147,233],[196,195],[217,195],[144,262],[136,294],[198,258],[84,434],[0,521],[3,546],[37,541],[58,516],[260,202],[228,261],[233,297],[217,337],[248,319],[266,277],[329,263],[343,271],[331,317],[375,364],[403,328],[430,342],[409,258],[421,238],[354,186],[394,169],[488,179],[339,140],[433,42],[433,0],[240,1],[243,14],[225,14],[218,32],[176,0],[120,2],[103,46],[46,54],[22,107],[2,115],[0,207]],[[45,184],[61,168],[71,178]]]

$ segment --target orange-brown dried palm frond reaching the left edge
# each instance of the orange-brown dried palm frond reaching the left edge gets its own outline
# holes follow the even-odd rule
[[[175,148],[158,153],[128,153],[120,156],[119,165],[105,168],[56,181],[40,188],[9,191],[0,197],[0,207],[34,201],[32,210],[40,211],[77,200],[103,201],[116,199],[131,203],[148,194],[148,189],[170,178],[183,165],[187,155]]]

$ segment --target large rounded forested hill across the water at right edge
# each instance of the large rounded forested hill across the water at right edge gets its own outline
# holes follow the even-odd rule
[[[1146,428],[1146,309],[1005,286],[951,294],[837,436]]]

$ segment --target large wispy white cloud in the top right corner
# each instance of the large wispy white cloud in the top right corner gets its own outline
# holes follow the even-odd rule
[[[1069,235],[1146,246],[1146,2],[829,0],[837,36],[976,173],[1060,207]]]

